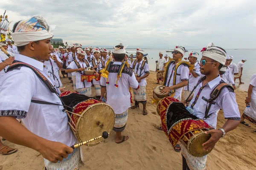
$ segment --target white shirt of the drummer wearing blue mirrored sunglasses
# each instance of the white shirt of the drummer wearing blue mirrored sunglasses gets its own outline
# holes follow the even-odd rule
[[[204,113],[207,106],[206,100],[210,98],[212,90],[219,84],[220,81],[221,77],[218,76],[217,78],[208,82],[207,85],[204,86],[203,90],[199,94],[198,101],[193,106],[193,114],[198,118],[204,118]],[[200,83],[195,89],[193,99],[191,100],[189,105],[190,107],[194,104],[193,102],[195,101],[195,97],[198,95],[198,91],[200,90],[201,87],[203,87],[202,83]],[[233,91],[231,92],[227,88],[223,88],[221,93],[219,94],[217,99],[215,99],[214,102],[215,103],[212,104],[208,113],[208,115],[211,113],[212,115],[210,115],[209,118],[204,120],[211,127],[214,127],[216,129],[217,116],[220,108],[223,109],[225,119],[240,118],[239,108],[236,103],[236,94]]]

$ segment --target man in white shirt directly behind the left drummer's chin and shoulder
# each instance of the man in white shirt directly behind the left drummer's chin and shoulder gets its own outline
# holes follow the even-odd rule
[[[48,61],[44,61],[44,65],[47,66],[47,70],[51,73],[52,79],[55,81],[57,88],[62,88],[62,83],[60,76],[58,74],[59,68],[62,68],[63,62],[61,59],[56,56],[56,54],[51,53],[50,59]]]

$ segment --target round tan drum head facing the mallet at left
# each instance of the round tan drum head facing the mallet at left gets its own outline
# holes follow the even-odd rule
[[[111,132],[115,123],[115,114],[110,105],[97,103],[88,106],[79,117],[76,124],[76,137],[84,142],[98,136],[102,136],[104,131]],[[93,146],[99,144],[104,139],[96,139],[87,144]]]

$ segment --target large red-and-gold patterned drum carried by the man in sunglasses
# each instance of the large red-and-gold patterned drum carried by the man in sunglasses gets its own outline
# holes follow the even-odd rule
[[[177,99],[161,99],[157,104],[157,113],[161,117],[163,131],[173,147],[180,141],[188,153],[196,157],[205,156],[212,151],[204,150],[202,144],[211,137],[204,131],[213,128],[189,113]]]

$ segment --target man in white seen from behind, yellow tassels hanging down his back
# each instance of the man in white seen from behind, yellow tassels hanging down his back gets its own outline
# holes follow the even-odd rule
[[[136,89],[139,85],[131,68],[120,67],[125,58],[125,49],[122,44],[113,48],[113,58],[115,62],[111,62],[108,76],[101,77],[100,85],[102,89],[102,99],[105,98],[107,91],[106,103],[113,108],[115,112],[115,124],[113,130],[116,132],[115,142],[120,144],[128,140],[128,136],[122,136],[128,119],[128,108],[131,107],[129,87]],[[122,68],[122,67],[121,67]],[[120,71],[120,74],[118,72]],[[104,74],[102,74],[104,75]],[[118,77],[118,78],[117,78]]]

